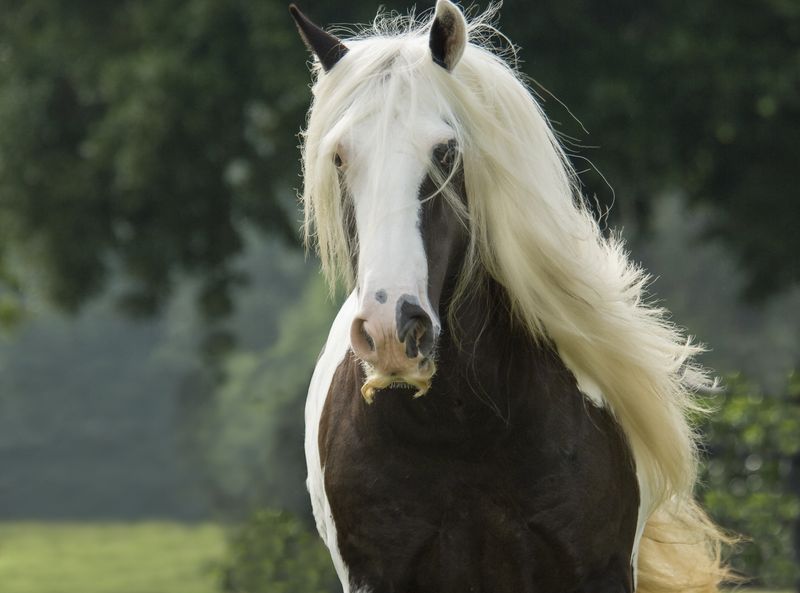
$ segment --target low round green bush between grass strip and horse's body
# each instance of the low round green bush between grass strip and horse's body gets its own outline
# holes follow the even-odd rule
[[[341,591],[328,550],[287,513],[259,511],[233,537],[223,569],[225,593]]]

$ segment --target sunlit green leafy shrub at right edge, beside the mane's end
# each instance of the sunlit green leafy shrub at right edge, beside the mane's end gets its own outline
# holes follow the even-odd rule
[[[800,579],[791,539],[800,492],[790,486],[791,460],[800,463],[800,375],[777,396],[731,377],[718,404],[705,427],[703,500],[721,525],[745,538],[732,559],[737,571],[757,584],[793,585]]]

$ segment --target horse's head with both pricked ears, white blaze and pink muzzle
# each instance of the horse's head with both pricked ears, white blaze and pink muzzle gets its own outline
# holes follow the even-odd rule
[[[358,41],[348,47],[295,6],[291,13],[320,76],[333,78],[348,59],[357,60]],[[387,47],[386,68],[361,73],[369,92],[347,98],[317,144],[331,153],[346,213],[358,298],[350,342],[366,372],[367,401],[390,386],[423,395],[435,373],[442,294],[461,267],[468,237],[459,216],[465,191],[459,138],[436,85],[407,84],[407,77],[450,76],[466,43],[464,16],[439,0],[428,46],[399,66]]]

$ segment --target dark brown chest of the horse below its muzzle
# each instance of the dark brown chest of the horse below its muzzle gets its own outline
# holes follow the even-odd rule
[[[353,591],[630,590],[636,479],[606,414],[452,391],[367,406],[359,378],[348,356],[319,431]]]

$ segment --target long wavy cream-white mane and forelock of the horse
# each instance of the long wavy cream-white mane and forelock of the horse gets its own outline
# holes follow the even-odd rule
[[[646,512],[655,513],[650,538],[700,546],[695,570],[718,579],[720,536],[692,502],[697,454],[687,415],[697,410],[695,392],[708,385],[692,362],[699,348],[647,302],[648,276],[619,237],[601,231],[524,77],[494,49],[493,15],[490,9],[470,22],[470,43],[452,74],[430,60],[428,16],[379,15],[347,41],[347,59],[328,73],[316,69],[303,146],[307,242],[316,245],[331,283],[352,284],[350,214],[333,164],[338,139],[365,110],[412,111],[415,89],[433,89],[455,131],[468,195],[462,289],[481,275],[499,282],[515,320],[552,343],[584,389],[601,394],[633,451],[642,499],[651,503]],[[681,526],[655,533],[669,524]],[[646,542],[642,550],[644,556]],[[648,578],[641,564],[668,563],[672,553],[640,558],[640,589]],[[678,590],[686,570],[653,568],[672,575],[647,590]],[[670,578],[677,581],[668,584]]]

